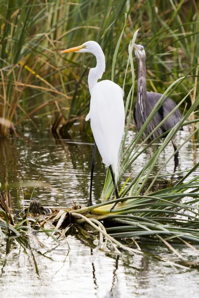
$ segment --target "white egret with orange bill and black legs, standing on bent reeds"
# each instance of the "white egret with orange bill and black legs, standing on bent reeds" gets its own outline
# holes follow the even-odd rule
[[[96,56],[97,60],[97,66],[90,70],[88,77],[91,104],[90,112],[86,117],[86,121],[91,119],[91,129],[95,139],[94,153],[91,163],[91,187],[89,199],[89,206],[91,206],[96,145],[100,151],[103,163],[110,168],[115,195],[117,199],[119,198],[115,180],[118,177],[119,150],[124,132],[124,92],[117,84],[110,80],[102,80],[98,82],[105,71],[105,57],[97,42],[88,41],[81,46],[62,51],[62,53],[69,52],[92,53]]]

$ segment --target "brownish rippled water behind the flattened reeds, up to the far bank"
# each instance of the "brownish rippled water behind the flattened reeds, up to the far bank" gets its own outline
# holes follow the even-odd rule
[[[188,133],[189,131],[186,130],[178,133],[178,142],[180,144],[185,140]],[[33,138],[26,133],[24,138],[18,138],[14,141],[0,139],[0,182],[1,184],[6,181],[9,182],[12,190],[13,206],[16,206],[17,187],[19,185],[23,187],[26,203],[39,178],[35,196],[38,196],[42,205],[66,207],[71,205],[72,199],[77,204],[86,205],[89,198],[90,164],[94,140],[80,138],[76,138],[74,141],[54,139],[48,132],[43,132],[41,139],[37,139],[37,137],[36,135]],[[132,138],[133,133],[129,132],[127,141],[130,142]],[[154,151],[157,146],[153,146]],[[189,169],[196,164],[198,150],[199,145],[190,140],[185,148],[180,151],[177,171]],[[173,148],[170,144],[167,150],[161,154],[158,164],[154,167],[154,174],[157,173],[172,153]],[[147,153],[141,154],[129,172],[124,175],[124,179],[131,172],[136,175],[148,158]],[[162,173],[173,172],[173,170],[174,161],[170,160]],[[100,154],[97,151],[93,188],[94,200],[100,198],[105,172],[106,167],[101,162]],[[177,174],[169,178],[175,182],[180,176]],[[168,180],[158,181],[158,184],[160,184],[158,187],[165,183],[168,183]]]

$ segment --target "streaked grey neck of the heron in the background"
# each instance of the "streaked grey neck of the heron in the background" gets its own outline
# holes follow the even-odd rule
[[[138,60],[137,102],[139,104],[142,115],[148,115],[150,103],[146,91],[145,59]]]

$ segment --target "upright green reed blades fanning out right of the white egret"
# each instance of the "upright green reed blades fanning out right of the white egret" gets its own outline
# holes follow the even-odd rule
[[[119,178],[122,177],[123,173],[125,173],[134,163],[134,161],[139,157],[139,155],[146,149],[148,148],[150,145],[148,145],[145,149],[142,149],[141,151],[140,148],[141,146],[143,146],[145,143],[147,143],[147,141],[149,140],[150,136],[174,113],[174,111],[180,107],[180,105],[187,99],[187,97],[191,94],[191,92],[193,90],[195,90],[195,88],[197,86],[194,86],[189,92],[188,94],[180,101],[180,103],[176,106],[176,108],[169,113],[169,115],[167,115],[167,117],[165,117],[165,119],[151,132],[151,134],[141,142],[141,144],[139,145],[139,142],[142,138],[142,134],[144,132],[144,130],[146,129],[147,125],[149,124],[149,122],[151,121],[151,119],[154,117],[154,115],[157,113],[157,111],[159,110],[160,106],[165,102],[165,100],[172,94],[172,92],[179,87],[186,79],[190,78],[189,74],[192,74],[193,71],[195,69],[197,69],[198,65],[196,67],[194,67],[188,74],[186,74],[184,77],[178,78],[175,82],[173,82],[168,89],[164,92],[164,94],[162,95],[162,97],[160,98],[160,100],[157,102],[156,106],[153,108],[153,110],[151,111],[149,117],[147,118],[145,124],[143,125],[142,129],[139,131],[139,133],[136,135],[136,137],[134,138],[134,140],[131,142],[131,144],[125,148],[125,140],[126,140],[126,135],[129,129],[129,122],[130,122],[130,116],[131,116],[131,109],[132,109],[132,101],[133,101],[133,91],[134,91],[134,81],[135,81],[135,77],[134,77],[134,66],[133,66],[133,58],[132,58],[132,51],[133,51],[133,45],[135,42],[135,38],[137,36],[138,30],[135,32],[133,39],[131,41],[131,43],[129,44],[129,61],[130,61],[130,66],[131,66],[131,74],[132,74],[132,88],[130,89],[128,95],[127,95],[127,100],[126,100],[126,106],[125,106],[125,111],[126,111],[126,115],[127,115],[127,111],[128,111],[128,107],[130,104],[130,110],[129,110],[129,116],[127,118],[127,126],[126,126],[126,130],[125,130],[125,134],[124,134],[124,138],[123,138],[123,142],[122,142],[122,164],[121,164],[121,169],[120,169],[120,174],[119,174]],[[127,67],[128,67],[128,63],[127,63]],[[125,76],[126,78],[126,76]],[[124,82],[125,85],[125,82]],[[165,98],[164,98],[165,97]],[[131,103],[130,103],[130,98],[131,98]],[[164,100],[163,100],[164,98]],[[128,194],[129,192],[129,196],[131,196],[132,194],[139,194],[141,193],[142,189],[144,188],[148,178],[150,177],[154,166],[160,156],[160,154],[162,153],[162,151],[166,148],[166,146],[168,145],[168,143],[174,138],[175,134],[177,133],[177,131],[181,128],[182,125],[185,124],[185,122],[188,120],[188,118],[190,117],[190,115],[193,114],[193,112],[197,109],[197,106],[199,105],[199,96],[195,99],[195,102],[193,103],[193,105],[190,107],[190,109],[185,113],[185,115],[182,117],[181,121],[179,122],[179,124],[177,124],[172,130],[170,130],[170,132],[167,132],[167,136],[163,142],[163,144],[159,147],[159,149],[154,153],[154,155],[152,156],[152,158],[150,158],[150,160],[146,163],[146,165],[139,171],[139,173],[135,176],[135,177],[129,177],[127,179],[127,181],[124,183],[119,195],[120,197],[124,197],[125,195]],[[197,122],[197,120],[196,120]],[[196,130],[194,130],[194,132],[187,137],[186,141],[177,149],[177,151],[182,148],[197,132],[198,132],[199,128],[197,128]],[[163,134],[162,136],[158,137],[155,141],[151,142],[154,143],[157,140],[159,140],[161,137],[164,137],[165,134]],[[136,149],[137,146],[137,149]],[[176,152],[177,152],[176,151]],[[155,181],[157,180],[159,174],[161,173],[161,170],[166,166],[166,164],[169,162],[169,160],[174,156],[174,154],[176,153],[174,152],[172,154],[172,156],[165,162],[165,164],[161,167],[161,169],[159,170],[159,172],[157,173],[157,175],[155,176],[155,178],[153,179],[153,181],[151,182],[150,186],[147,188],[146,193],[148,193],[150,191],[150,188],[152,187],[152,185],[155,183]],[[126,183],[128,182],[128,184],[126,185]],[[112,179],[110,176],[109,171],[107,170],[107,174],[106,174],[106,180],[104,183],[104,188],[101,194],[101,199],[102,200],[108,200],[111,196],[111,194],[113,193],[114,187],[113,187],[113,183],[112,183]]]

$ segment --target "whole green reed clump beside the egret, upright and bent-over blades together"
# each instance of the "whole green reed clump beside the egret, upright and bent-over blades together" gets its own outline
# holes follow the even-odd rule
[[[120,178],[127,170],[129,170],[130,166],[139,157],[139,155],[146,151],[150,145],[152,145],[154,142],[157,142],[161,137],[164,137],[164,135],[165,139],[162,145],[159,146],[159,149],[154,153],[152,158],[150,158],[146,165],[140,169],[139,173],[136,176],[133,176],[133,173],[130,174],[128,179],[123,183],[120,190],[120,199],[102,202],[101,204],[91,207],[84,207],[78,209],[77,211],[61,211],[58,213],[56,218],[52,218],[50,220],[52,220],[53,223],[54,221],[56,222],[59,220],[58,225],[60,226],[60,224],[64,224],[64,221],[68,220],[68,218],[75,217],[76,223],[85,222],[96,228],[98,231],[100,231],[100,229],[103,230],[103,227],[99,221],[105,221],[105,225],[108,221],[108,224],[110,224],[111,227],[107,227],[106,232],[108,232],[109,235],[114,238],[125,239],[133,237],[134,244],[137,237],[139,237],[139,239],[147,237],[149,239],[162,241],[173,252],[180,256],[175,248],[171,245],[171,242],[181,241],[187,244],[189,247],[192,247],[190,242],[199,242],[199,226],[197,224],[199,221],[199,207],[197,205],[199,202],[199,176],[189,180],[190,174],[192,174],[198,168],[199,163],[196,164],[192,169],[188,170],[187,174],[174,186],[171,185],[170,187],[168,186],[167,188],[158,191],[152,191],[152,186],[156,183],[158,178],[175,174],[167,173],[163,175],[161,171],[171,160],[176,151],[183,148],[183,146],[198,132],[199,128],[196,127],[196,129],[194,129],[192,134],[190,134],[183,144],[168,158],[168,160],[163,164],[155,176],[152,173],[160,154],[163,152],[163,150],[165,150],[168,143],[175,136],[179,128],[184,125],[189,125],[190,123],[198,122],[198,120],[188,121],[188,119],[199,105],[199,96],[196,98],[193,105],[185,111],[181,121],[173,129],[158,137],[143,149],[142,147],[145,143],[147,143],[150,135],[145,140],[142,140],[141,144],[139,143],[144,129],[166,98],[170,96],[174,89],[176,89],[183,81],[190,77],[190,74],[194,72],[194,69],[196,69],[197,66],[184,77],[177,79],[169,86],[169,88],[164,92],[162,98],[160,98],[159,102],[152,110],[144,126],[136,135],[135,139],[132,140],[128,146],[126,146],[125,141],[127,132],[129,130],[133,90],[135,84],[132,49],[137,33],[138,30],[135,32],[133,39],[129,44],[129,61],[127,63],[127,68],[128,64],[130,64],[132,73],[132,87],[127,95],[125,106],[126,115],[128,117],[126,131],[122,143],[123,151],[121,153],[122,163],[119,175]],[[118,47],[120,41],[121,39],[118,40]],[[113,65],[115,65],[115,59],[116,55],[114,56]],[[112,68],[112,71],[114,72],[114,67]],[[190,89],[188,94],[177,105],[176,109],[185,101],[187,96],[195,90],[195,88],[196,86]],[[163,100],[164,95],[166,95],[166,97]],[[162,121],[162,123],[164,123],[164,121],[166,121],[166,119],[168,119],[173,112],[174,110]],[[160,125],[162,123],[160,123]],[[156,129],[158,129],[158,127],[156,127],[154,131]],[[151,135],[154,133],[154,131],[151,133]],[[148,185],[147,187],[145,187],[146,184]],[[101,200],[110,200],[112,193],[113,183],[110,173],[107,171]],[[115,202],[118,202],[118,204],[116,205],[115,209],[111,211],[111,207]],[[104,230],[103,232],[100,232],[105,235]]]

